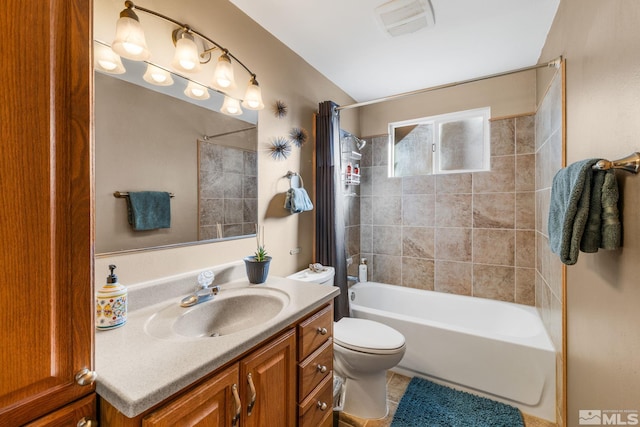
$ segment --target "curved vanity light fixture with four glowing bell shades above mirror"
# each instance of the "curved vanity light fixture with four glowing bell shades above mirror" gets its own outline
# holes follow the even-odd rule
[[[143,61],[149,58],[150,52],[146,45],[144,32],[134,9],[148,13],[178,27],[171,34],[173,43],[176,46],[172,62],[174,68],[185,73],[197,72],[200,70],[201,64],[206,64],[211,61],[212,51],[219,49],[222,54],[216,61],[212,86],[225,95],[228,95],[227,92],[236,87],[232,64],[232,61],[235,61],[251,76],[242,105],[250,110],[261,110],[264,108],[262,94],[255,73],[247,68],[247,66],[229,52],[228,49],[194,30],[189,25],[176,21],[166,15],[141,6],[136,6],[130,0],[125,1],[124,5],[125,9],[120,12],[120,19],[118,19],[116,24],[116,37],[112,44],[112,48],[116,53],[125,58],[137,61]],[[204,46],[203,52],[200,54],[198,53],[196,36],[202,41]],[[193,96],[191,97],[193,98]]]

